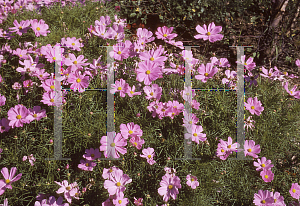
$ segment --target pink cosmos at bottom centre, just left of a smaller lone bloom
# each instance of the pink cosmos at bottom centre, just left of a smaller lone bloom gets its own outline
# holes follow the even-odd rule
[[[175,200],[179,194],[178,188],[181,188],[180,179],[177,176],[170,177],[164,175],[158,188],[158,194],[163,196],[163,200],[168,202],[170,196]]]

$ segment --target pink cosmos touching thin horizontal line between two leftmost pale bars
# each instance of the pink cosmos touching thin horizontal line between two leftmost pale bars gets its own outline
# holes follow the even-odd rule
[[[89,86],[89,76],[86,76],[86,73],[84,72],[81,75],[80,71],[76,71],[75,73],[71,73],[68,82],[72,83],[70,88],[74,89],[74,91],[78,90],[79,93],[84,92],[84,89]]]

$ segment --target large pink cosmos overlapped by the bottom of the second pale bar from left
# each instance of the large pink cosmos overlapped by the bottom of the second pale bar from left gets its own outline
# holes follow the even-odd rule
[[[125,138],[122,138],[122,135],[118,133],[114,138],[115,132],[107,132],[107,136],[102,136],[100,143],[100,151],[104,151],[105,158],[112,156],[113,158],[119,158],[121,154],[126,154],[127,149],[124,146],[127,145]]]

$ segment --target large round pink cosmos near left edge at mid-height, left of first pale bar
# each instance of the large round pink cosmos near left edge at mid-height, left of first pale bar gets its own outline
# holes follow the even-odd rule
[[[27,116],[29,115],[28,109],[20,104],[16,105],[14,108],[10,108],[7,115],[10,120],[9,126],[12,128],[23,127],[24,123],[30,122],[30,120],[27,119]]]

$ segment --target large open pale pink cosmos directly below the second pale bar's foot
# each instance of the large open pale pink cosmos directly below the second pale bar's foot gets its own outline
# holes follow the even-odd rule
[[[107,189],[110,195],[116,194],[118,196],[126,190],[125,185],[131,182],[132,179],[127,174],[123,174],[122,170],[116,170],[110,180],[104,181],[104,188]]]

